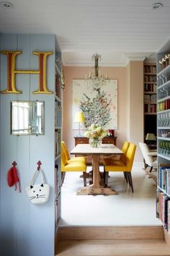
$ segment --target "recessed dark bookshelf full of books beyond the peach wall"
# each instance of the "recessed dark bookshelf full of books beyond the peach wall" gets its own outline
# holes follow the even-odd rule
[[[145,139],[148,133],[156,136],[156,63],[144,63],[143,82],[144,141],[147,143]]]

